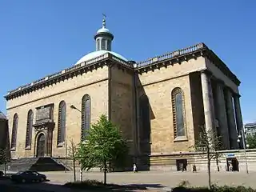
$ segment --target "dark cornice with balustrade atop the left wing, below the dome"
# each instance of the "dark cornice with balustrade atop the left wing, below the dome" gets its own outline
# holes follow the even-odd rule
[[[37,81],[26,84],[25,86],[20,86],[15,90],[11,90],[10,92],[8,92],[5,98],[8,101],[24,94],[29,94],[34,90],[40,90],[43,87],[62,82],[69,78],[74,78],[89,71],[97,70],[98,68],[102,68],[103,66],[112,65],[118,65],[118,67],[122,68],[123,70],[133,70],[133,65],[129,62],[123,61],[121,58],[117,58],[113,54],[106,53],[102,54],[97,58],[90,59],[89,61],[82,62],[75,66],[71,66],[66,70],[59,71],[55,74],[50,74],[45,78],[38,79]]]

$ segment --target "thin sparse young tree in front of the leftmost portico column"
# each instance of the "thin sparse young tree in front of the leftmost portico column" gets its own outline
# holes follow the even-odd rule
[[[202,154],[206,154],[206,157],[201,155],[202,158],[207,158],[207,170],[208,170],[208,184],[211,188],[210,180],[210,161],[211,159],[216,159],[217,168],[218,158],[221,154],[218,150],[222,147],[221,137],[216,134],[214,130],[206,130],[205,126],[202,126],[199,132],[198,139],[196,139],[194,144],[194,149],[196,151],[201,151]]]

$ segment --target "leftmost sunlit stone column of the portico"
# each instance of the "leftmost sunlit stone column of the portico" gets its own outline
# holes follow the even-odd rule
[[[205,114],[206,131],[213,131],[214,128],[214,110],[213,110],[213,94],[210,86],[209,72],[201,71],[202,84],[202,102]]]

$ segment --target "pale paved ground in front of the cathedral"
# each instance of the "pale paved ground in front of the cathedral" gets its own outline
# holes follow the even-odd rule
[[[26,184],[22,187],[31,187],[37,191],[79,191],[70,190],[62,185],[66,182],[73,182],[74,175],[72,171],[55,171],[55,172],[42,172],[46,174],[50,182]],[[79,180],[79,172],[76,173],[77,180]],[[212,183],[218,186],[250,186],[256,189],[256,172],[246,174],[243,172],[213,172],[211,173]],[[83,180],[96,179],[102,181],[103,173],[100,172],[86,172],[83,173]],[[181,182],[189,182],[191,186],[207,186],[208,175],[206,172],[191,173],[191,172],[174,172],[174,171],[143,171],[138,173],[133,172],[118,172],[108,173],[107,182],[119,185],[141,185],[146,186],[150,191],[170,191],[171,188],[178,186]],[[0,181],[0,185],[1,185]],[[2,186],[1,186],[2,187]],[[2,191],[2,188],[1,188]],[[12,190],[7,190],[12,191]],[[15,191],[15,190],[14,190]],[[36,191],[36,190],[34,190]],[[80,190],[81,191],[81,190]],[[82,190],[84,191],[84,190]],[[138,190],[139,191],[139,190]],[[143,191],[143,190],[141,190]]]

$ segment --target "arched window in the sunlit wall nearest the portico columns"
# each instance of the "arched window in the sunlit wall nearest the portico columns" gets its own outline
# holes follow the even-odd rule
[[[174,88],[171,92],[174,118],[174,137],[186,136],[185,103],[182,89]]]

